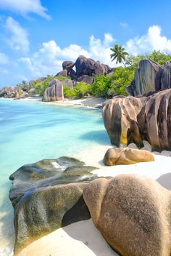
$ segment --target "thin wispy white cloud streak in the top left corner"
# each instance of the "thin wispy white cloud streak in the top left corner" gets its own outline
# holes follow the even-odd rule
[[[20,13],[21,15],[27,15],[29,12],[33,12],[48,20],[50,18],[46,14],[47,9],[41,5],[40,0],[0,0],[0,9],[7,9]]]

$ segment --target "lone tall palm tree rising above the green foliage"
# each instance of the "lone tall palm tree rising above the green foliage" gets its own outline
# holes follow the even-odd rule
[[[123,65],[125,65],[124,61],[125,61],[125,56],[128,55],[128,52],[124,52],[125,48],[123,48],[121,45],[118,44],[114,44],[113,48],[110,48],[111,51],[113,52],[110,57],[113,60],[117,60],[116,63],[123,63]],[[123,61],[124,60],[124,61]],[[125,65],[126,67],[126,65]]]

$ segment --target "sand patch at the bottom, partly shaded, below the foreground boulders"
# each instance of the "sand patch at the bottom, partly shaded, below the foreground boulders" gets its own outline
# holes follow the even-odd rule
[[[34,241],[18,256],[116,256],[92,220],[73,223]]]

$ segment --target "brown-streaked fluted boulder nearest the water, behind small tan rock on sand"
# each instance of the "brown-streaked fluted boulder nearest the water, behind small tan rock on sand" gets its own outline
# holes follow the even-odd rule
[[[104,125],[111,143],[120,147],[120,143],[135,143],[143,146],[138,129],[137,116],[143,108],[146,97],[115,96],[103,105]]]

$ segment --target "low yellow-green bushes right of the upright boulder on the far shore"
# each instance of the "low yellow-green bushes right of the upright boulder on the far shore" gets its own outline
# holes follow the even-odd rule
[[[64,97],[74,97],[80,99],[88,96],[89,94],[91,94],[91,84],[78,82],[77,86],[75,86],[73,89],[64,86]]]

